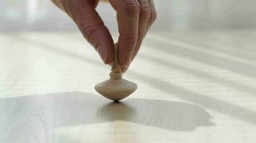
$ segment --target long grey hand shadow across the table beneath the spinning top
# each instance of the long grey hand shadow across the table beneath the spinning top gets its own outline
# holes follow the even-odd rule
[[[180,131],[213,125],[209,121],[211,116],[193,104],[156,99],[125,99],[109,103],[104,98],[83,92],[0,99],[0,107],[2,129],[19,130],[24,124],[29,124],[33,130],[40,124],[50,129],[115,120]]]

